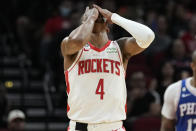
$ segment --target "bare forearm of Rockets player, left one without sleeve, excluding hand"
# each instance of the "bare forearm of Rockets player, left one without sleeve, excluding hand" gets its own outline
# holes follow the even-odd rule
[[[82,44],[82,46],[85,45],[90,39],[94,23],[95,20],[89,18],[69,35],[69,39],[77,41],[77,43]]]

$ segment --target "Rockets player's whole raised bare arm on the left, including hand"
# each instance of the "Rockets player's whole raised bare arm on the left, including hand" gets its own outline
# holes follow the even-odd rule
[[[99,12],[96,8],[86,8],[82,24],[73,30],[68,37],[64,38],[61,43],[63,56],[76,54],[89,41],[98,15]]]

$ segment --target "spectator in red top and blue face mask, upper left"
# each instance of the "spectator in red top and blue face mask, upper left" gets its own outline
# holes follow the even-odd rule
[[[56,16],[49,18],[44,25],[44,34],[40,46],[40,63],[45,66],[51,66],[55,56],[50,56],[51,52],[56,52],[58,43],[54,43],[55,36],[63,31],[66,36],[71,31],[70,14],[72,11],[72,1],[64,0],[60,3]],[[62,34],[61,34],[62,35]],[[46,64],[47,63],[47,64]]]

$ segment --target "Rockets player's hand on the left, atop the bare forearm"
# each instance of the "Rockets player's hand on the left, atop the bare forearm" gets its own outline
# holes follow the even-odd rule
[[[99,16],[99,11],[96,8],[89,9],[89,7],[87,6],[84,15],[87,18],[86,20],[93,19],[94,21],[96,21]]]

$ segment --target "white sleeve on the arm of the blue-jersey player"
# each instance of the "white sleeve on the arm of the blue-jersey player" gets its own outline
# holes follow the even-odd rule
[[[170,85],[164,94],[164,104],[161,114],[168,119],[176,119],[176,110],[179,101],[181,85],[180,82]]]

